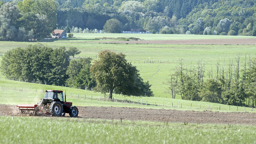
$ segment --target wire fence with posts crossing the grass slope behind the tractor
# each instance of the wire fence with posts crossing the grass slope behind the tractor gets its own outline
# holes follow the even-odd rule
[[[44,93],[44,89],[36,89],[36,88],[31,88],[31,87],[16,87],[16,86],[0,86],[0,90],[16,90],[16,91],[21,91],[21,92],[32,92],[32,93],[38,93],[38,94],[42,94]],[[92,95],[86,95],[81,94],[81,93],[66,93],[66,97],[67,98],[74,98],[74,99],[80,99],[80,100],[94,100],[97,102],[113,102],[113,103],[119,103],[119,104],[134,104],[134,105],[143,105],[143,106],[158,106],[158,107],[164,107],[164,108],[173,108],[173,109],[191,109],[191,110],[226,110],[226,111],[238,111],[238,112],[249,112],[249,111],[254,111],[254,108],[251,108],[250,110],[248,108],[245,107],[238,107],[238,106],[206,106],[201,105],[201,104],[185,104],[182,105],[181,102],[170,102],[170,99],[166,99],[166,101],[162,101],[162,102],[153,102],[152,100],[150,102],[148,102],[148,100],[143,100],[140,99],[138,101],[135,100],[130,100],[127,98],[106,98],[105,97],[101,97],[101,96],[92,96]]]

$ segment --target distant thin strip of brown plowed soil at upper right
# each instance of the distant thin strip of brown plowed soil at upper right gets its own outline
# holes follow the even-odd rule
[[[116,43],[116,44],[216,44],[216,45],[254,45],[256,38],[244,39],[209,39],[209,40],[140,40],[140,41],[107,41],[95,43]]]

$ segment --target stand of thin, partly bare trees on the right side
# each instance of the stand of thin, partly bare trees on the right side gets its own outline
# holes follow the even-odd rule
[[[218,61],[207,71],[201,60],[197,66],[185,66],[180,60],[168,80],[168,92],[172,98],[180,94],[184,100],[256,106],[256,58],[240,57],[223,64]]]

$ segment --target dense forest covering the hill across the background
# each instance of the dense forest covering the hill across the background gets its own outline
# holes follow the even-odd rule
[[[6,1],[1,1],[0,5]],[[17,10],[20,12],[16,16],[17,20],[22,22],[32,17],[37,22],[44,22],[46,20],[42,18],[48,19],[50,16],[55,20],[52,19],[52,24],[46,27],[68,32],[96,32],[96,29],[103,29],[107,20],[114,18],[120,21],[122,30],[256,36],[254,0],[42,0],[41,3],[47,1],[51,7],[43,9],[41,6],[40,11],[36,10],[36,4],[32,4],[38,1],[13,0],[13,5],[18,5]],[[27,8],[22,8],[22,4]],[[1,19],[0,24],[4,21]],[[16,30],[24,28],[28,31],[25,32],[28,37],[31,37],[32,32],[29,31],[32,28],[16,24]]]

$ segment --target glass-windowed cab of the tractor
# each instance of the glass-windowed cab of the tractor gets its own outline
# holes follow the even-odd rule
[[[45,90],[44,102],[60,101],[64,102],[62,90]]]

